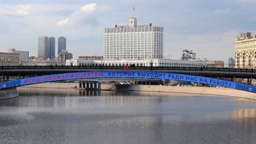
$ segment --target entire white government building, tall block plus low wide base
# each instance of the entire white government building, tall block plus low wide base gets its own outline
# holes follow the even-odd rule
[[[163,58],[163,27],[137,25],[137,18],[129,19],[129,26],[104,29],[103,60],[66,60],[66,65],[135,65],[135,66],[203,67],[206,62]]]

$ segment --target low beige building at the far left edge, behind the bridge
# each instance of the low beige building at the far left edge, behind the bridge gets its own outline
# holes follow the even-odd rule
[[[20,65],[20,54],[11,52],[0,52],[1,66]]]

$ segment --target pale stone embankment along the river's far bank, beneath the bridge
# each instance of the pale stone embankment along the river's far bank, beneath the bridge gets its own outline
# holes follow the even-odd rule
[[[57,83],[47,82],[41,84],[32,84],[20,88],[78,88],[78,83]],[[133,90],[145,92],[174,92],[186,94],[203,94],[211,96],[230,96],[235,98],[256,99],[256,94],[231,88],[213,88],[196,86],[158,86],[158,85],[123,85],[123,88],[116,88],[115,84],[101,84],[101,90]]]

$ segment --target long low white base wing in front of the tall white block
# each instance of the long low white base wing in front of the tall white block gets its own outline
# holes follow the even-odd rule
[[[170,59],[152,59],[152,60],[83,60],[72,59],[66,60],[66,65],[106,65],[106,66],[154,66],[154,67],[204,67],[204,61],[188,61],[188,60],[170,60]]]

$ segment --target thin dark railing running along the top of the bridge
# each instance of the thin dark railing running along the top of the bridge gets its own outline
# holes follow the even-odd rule
[[[123,66],[106,66],[106,65],[35,65],[35,66],[2,66],[1,70],[7,69],[123,69]],[[131,70],[170,70],[170,71],[226,71],[226,72],[242,72],[256,73],[256,69],[235,69],[235,68],[216,68],[216,67],[145,67],[130,66]]]

